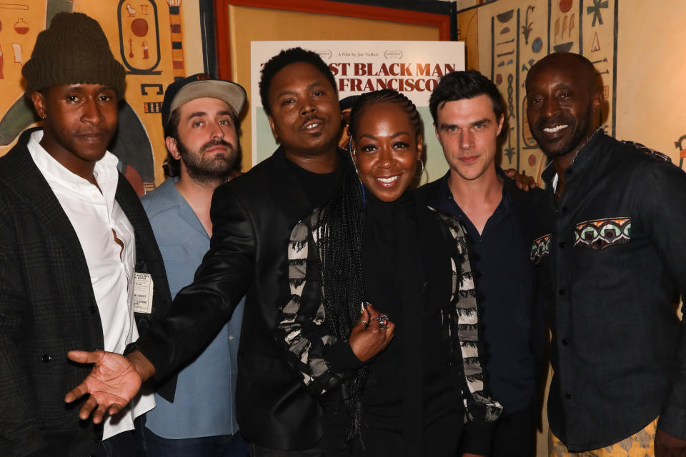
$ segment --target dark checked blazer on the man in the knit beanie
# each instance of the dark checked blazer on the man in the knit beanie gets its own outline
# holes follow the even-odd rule
[[[79,238],[26,149],[34,130],[0,158],[0,456],[86,456],[102,427],[81,421],[82,401],[67,405],[64,395],[91,367],[66,353],[102,349],[102,326]],[[134,226],[136,271],[154,283],[152,313],[136,314],[144,333],[169,308],[169,286],[143,207],[121,175],[116,201]]]

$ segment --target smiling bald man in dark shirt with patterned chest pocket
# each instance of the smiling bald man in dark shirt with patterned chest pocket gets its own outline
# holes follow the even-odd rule
[[[545,57],[526,88],[552,160],[531,254],[550,290],[550,455],[682,456],[686,175],[597,129],[602,96],[584,57]]]

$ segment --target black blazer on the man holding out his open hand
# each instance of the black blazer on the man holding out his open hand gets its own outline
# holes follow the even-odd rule
[[[194,282],[174,298],[169,318],[134,344],[164,376],[195,356],[245,295],[237,416],[242,435],[257,446],[296,451],[322,436],[318,402],[272,336],[290,298],[289,236],[312,209],[282,149],[219,186],[210,250]]]

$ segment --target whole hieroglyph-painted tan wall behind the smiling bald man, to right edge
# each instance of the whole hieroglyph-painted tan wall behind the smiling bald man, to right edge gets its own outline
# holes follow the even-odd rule
[[[509,131],[502,165],[537,176],[545,159],[528,131],[528,69],[569,49],[594,62],[605,96],[609,134],[661,151],[686,169],[686,2],[635,0],[462,0],[458,36],[467,68],[495,81],[507,102]]]

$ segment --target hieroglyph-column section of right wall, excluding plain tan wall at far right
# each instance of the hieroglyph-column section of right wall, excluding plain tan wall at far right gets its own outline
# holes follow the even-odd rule
[[[586,56],[602,79],[603,119],[614,135],[617,0],[499,0],[479,7],[479,69],[507,105],[502,166],[539,176],[545,156],[526,119],[527,71],[557,51]]]

